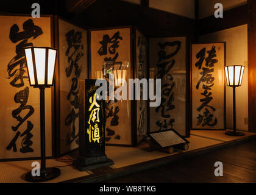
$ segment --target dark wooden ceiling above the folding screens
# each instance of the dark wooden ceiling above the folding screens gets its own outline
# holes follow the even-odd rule
[[[0,2],[0,11],[9,13],[32,12],[34,0]],[[194,35],[194,19],[121,0],[38,0],[41,14],[59,15],[87,27],[135,25],[149,36]],[[193,37],[193,36],[192,36]]]

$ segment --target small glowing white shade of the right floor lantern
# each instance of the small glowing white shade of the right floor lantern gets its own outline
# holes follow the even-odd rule
[[[232,65],[225,66],[225,73],[227,79],[227,86],[229,87],[239,87],[241,86],[244,74],[244,66],[242,65]]]

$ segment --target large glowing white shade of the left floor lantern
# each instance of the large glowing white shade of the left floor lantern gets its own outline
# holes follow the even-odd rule
[[[24,48],[29,83],[33,87],[51,87],[54,80],[57,49],[48,47]]]

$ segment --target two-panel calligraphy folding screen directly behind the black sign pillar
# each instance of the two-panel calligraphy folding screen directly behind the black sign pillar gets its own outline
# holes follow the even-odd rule
[[[135,40],[132,37],[135,37]],[[93,29],[90,31],[90,78],[99,79],[101,73],[108,80],[108,73],[122,70],[128,79],[146,78],[147,55],[146,37],[133,27]],[[133,62],[133,52],[136,55]],[[136,72],[136,73],[135,73]],[[124,76],[125,75],[125,76]],[[115,91],[118,86],[115,86]],[[105,143],[121,146],[135,146],[146,136],[146,101],[108,100],[105,101],[106,131]]]

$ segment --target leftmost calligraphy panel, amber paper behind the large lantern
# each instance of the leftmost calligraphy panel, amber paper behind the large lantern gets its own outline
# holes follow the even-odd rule
[[[0,16],[0,159],[40,157],[40,92],[23,48],[51,46],[51,17]],[[45,90],[46,156],[52,156],[51,88]]]

